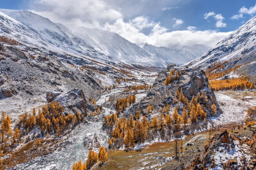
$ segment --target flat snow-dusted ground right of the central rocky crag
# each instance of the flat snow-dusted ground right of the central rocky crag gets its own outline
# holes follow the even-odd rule
[[[256,106],[256,92],[219,91],[214,92],[223,114],[212,117],[216,125],[241,124],[249,107]]]

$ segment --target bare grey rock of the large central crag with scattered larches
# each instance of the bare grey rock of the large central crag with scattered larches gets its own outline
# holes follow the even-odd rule
[[[164,81],[169,74],[171,69],[179,74],[178,81],[174,81],[172,85],[164,85]],[[141,110],[146,111],[147,106],[153,105],[155,108],[163,108],[167,104],[173,104],[173,100],[176,93],[176,87],[179,91],[182,89],[184,96],[190,100],[193,95],[196,96],[197,93],[202,94],[203,90],[206,93],[208,102],[200,101],[202,109],[208,114],[211,113],[211,106],[214,103],[217,106],[217,111],[220,113],[220,107],[216,101],[215,94],[208,82],[208,79],[203,70],[200,69],[188,69],[187,67],[177,67],[175,64],[169,64],[167,69],[158,74],[158,77],[153,84],[153,87],[149,89],[148,95],[141,100],[135,106],[140,106]],[[132,108],[134,112],[137,107]]]

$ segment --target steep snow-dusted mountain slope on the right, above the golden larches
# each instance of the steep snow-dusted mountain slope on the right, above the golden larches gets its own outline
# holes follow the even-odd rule
[[[208,68],[215,61],[228,61],[227,67],[242,64],[240,73],[256,74],[256,16],[221,40],[209,52],[189,62],[189,67]],[[249,63],[250,61],[250,63]],[[245,64],[248,63],[248,64]],[[250,73],[254,72],[254,73]]]

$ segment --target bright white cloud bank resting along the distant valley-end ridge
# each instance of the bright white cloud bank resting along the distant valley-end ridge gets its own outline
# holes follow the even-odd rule
[[[214,30],[196,31],[196,27],[190,26],[188,30],[169,31],[167,28],[156,23],[149,35],[140,32],[130,23],[118,19],[115,23],[107,23],[105,30],[116,32],[136,44],[148,43],[154,46],[187,46],[194,44],[216,45],[221,39],[227,37],[231,32],[217,32]],[[189,30],[190,29],[190,30]]]

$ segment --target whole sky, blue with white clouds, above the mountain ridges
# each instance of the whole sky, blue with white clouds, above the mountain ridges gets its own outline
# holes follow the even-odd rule
[[[1,0],[0,8],[29,10],[53,22],[167,47],[214,46],[256,15],[253,0]]]

